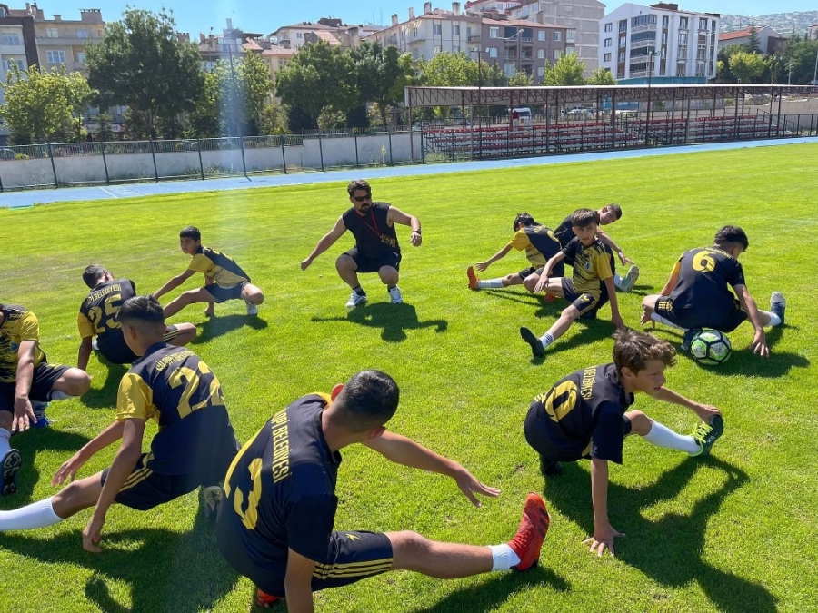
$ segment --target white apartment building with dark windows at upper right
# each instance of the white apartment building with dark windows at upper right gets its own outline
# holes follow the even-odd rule
[[[719,48],[717,13],[679,5],[624,4],[599,23],[599,65],[619,82],[706,83],[715,78]]]

